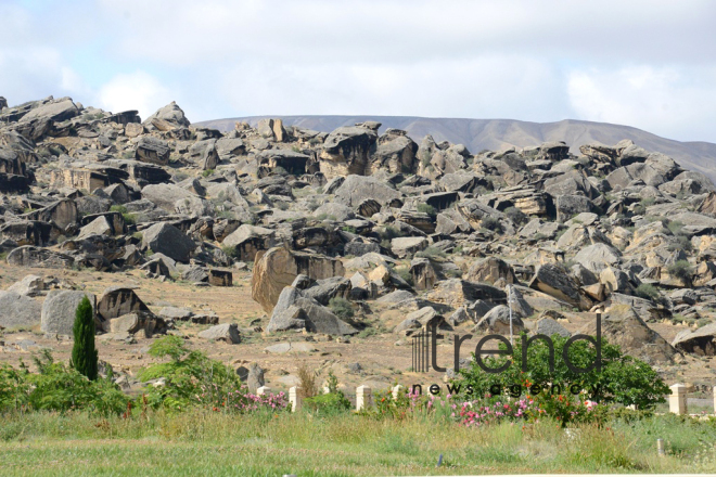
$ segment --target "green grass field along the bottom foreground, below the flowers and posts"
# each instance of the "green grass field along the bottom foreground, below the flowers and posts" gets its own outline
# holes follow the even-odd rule
[[[665,457],[656,455],[659,437]],[[3,477],[716,472],[716,426],[672,415],[565,433],[551,421],[465,428],[349,413],[104,420],[38,412],[3,416],[0,439]]]

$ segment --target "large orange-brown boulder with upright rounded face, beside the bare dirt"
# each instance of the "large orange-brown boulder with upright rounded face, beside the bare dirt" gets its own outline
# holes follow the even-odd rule
[[[291,252],[283,247],[270,248],[254,266],[252,298],[270,312],[281,295],[299,274],[311,280],[343,276],[343,263],[336,258],[305,252]]]

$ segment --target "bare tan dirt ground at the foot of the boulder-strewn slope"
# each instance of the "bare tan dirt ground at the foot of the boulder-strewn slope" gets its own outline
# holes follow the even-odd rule
[[[443,383],[444,375],[434,371],[431,373],[412,372],[412,354],[410,341],[391,332],[402,319],[405,312],[381,308],[370,302],[369,313],[358,313],[357,320],[367,320],[371,327],[378,330],[376,334],[354,336],[348,339],[334,338],[323,335],[312,335],[303,332],[286,332],[267,335],[255,331],[257,326],[266,327],[268,317],[264,310],[251,298],[251,272],[234,271],[233,286],[230,287],[200,287],[189,282],[159,282],[143,276],[140,271],[127,273],[104,273],[94,271],[74,271],[57,269],[27,269],[0,265],[0,287],[9,287],[28,274],[42,276],[56,276],[74,282],[78,287],[98,295],[110,286],[132,286],[136,293],[154,312],[163,307],[188,307],[194,312],[214,311],[220,318],[220,323],[238,323],[242,334],[242,343],[228,345],[210,343],[199,338],[196,334],[207,325],[179,323],[178,330],[189,339],[190,347],[201,349],[209,357],[231,364],[234,368],[258,362],[266,370],[267,385],[272,389],[285,390],[296,382],[296,372],[299,365],[319,371],[319,382],[325,378],[331,368],[338,376],[341,385],[350,392],[356,386],[369,384],[374,389],[388,388],[395,383],[404,386],[413,384],[430,385]],[[42,300],[43,297],[36,299]],[[565,313],[568,322],[562,324],[570,331],[579,330],[588,320],[588,313]],[[660,333],[667,341],[686,326],[667,323],[652,323],[650,326]],[[456,332],[468,334],[471,323],[463,324]],[[362,336],[362,337],[361,337]],[[18,341],[26,341],[20,346]],[[478,336],[463,343],[461,357],[469,358],[474,350]],[[67,361],[72,349],[72,341],[49,339],[39,330],[39,324],[33,330],[2,332],[0,341],[0,362],[18,364],[22,359],[29,363],[33,353],[40,348],[50,348],[56,360]],[[130,376],[153,362],[146,351],[153,338],[137,338],[136,344],[124,340],[103,339],[98,336],[97,346],[100,359],[113,365],[115,370]],[[266,348],[279,343],[299,344],[305,348],[299,351],[284,353],[268,352]],[[438,346],[438,363],[449,365],[452,363],[453,345],[451,337]],[[355,363],[358,363],[356,365]],[[686,357],[682,363],[660,369],[667,384],[677,382],[696,384],[716,384],[716,358]]]

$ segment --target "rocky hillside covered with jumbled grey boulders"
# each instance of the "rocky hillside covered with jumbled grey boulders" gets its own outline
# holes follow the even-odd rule
[[[568,334],[584,319],[589,332],[601,311],[610,340],[660,369],[716,354],[716,188],[629,140],[475,153],[375,121],[221,132],[175,103],[144,121],[69,98],[0,107],[3,267],[195,286],[248,268],[264,337],[507,333],[511,293],[517,331]],[[68,334],[82,293],[61,288],[73,285],[36,276],[1,292],[0,326]],[[400,315],[389,327],[387,310]],[[124,288],[95,311],[119,338],[188,319]]]

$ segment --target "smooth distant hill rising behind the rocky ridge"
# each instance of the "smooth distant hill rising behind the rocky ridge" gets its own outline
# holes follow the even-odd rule
[[[251,116],[196,123],[196,126],[228,131],[233,129],[236,121],[245,121],[255,126],[259,119],[266,117],[280,117],[286,126],[299,126],[327,132],[341,126],[376,120],[383,124],[381,131],[386,128],[404,129],[418,143],[425,134],[432,134],[438,142],[447,140],[451,143],[464,144],[473,154],[482,150],[500,151],[510,146],[525,147],[549,141],[564,141],[570,144],[572,152],[578,154],[579,146],[586,143],[598,142],[614,145],[623,139],[630,139],[647,151],[666,154],[683,167],[701,171],[716,182],[716,144],[679,142],[641,129],[608,123],[574,119],[558,123],[528,123],[514,119],[414,116]]]

